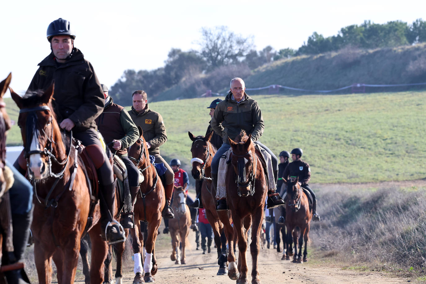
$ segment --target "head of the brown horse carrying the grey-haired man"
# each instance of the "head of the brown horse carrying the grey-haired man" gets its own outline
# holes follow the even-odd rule
[[[233,166],[236,183],[238,184],[238,195],[248,196],[254,194],[254,182],[256,177],[257,157],[251,134],[240,134],[235,142],[228,137],[232,149],[230,163]]]

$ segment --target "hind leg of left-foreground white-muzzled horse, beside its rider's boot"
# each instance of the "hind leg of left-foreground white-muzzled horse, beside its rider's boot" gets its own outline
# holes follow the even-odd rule
[[[104,261],[108,255],[108,244],[101,238],[101,223],[89,231],[92,243],[92,263],[90,264],[90,283],[101,284],[104,280]]]

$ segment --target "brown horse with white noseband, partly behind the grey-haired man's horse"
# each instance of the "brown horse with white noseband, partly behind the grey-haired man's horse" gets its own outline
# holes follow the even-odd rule
[[[192,171],[194,179],[203,179],[201,186],[201,201],[206,209],[206,216],[214,233],[214,242],[217,247],[219,270],[217,275],[226,275],[227,270],[227,239],[232,240],[230,247],[234,247],[234,229],[231,226],[232,217],[230,211],[216,211],[216,189],[212,186],[211,162],[216,154],[216,149],[210,142],[213,132],[206,137],[195,137],[188,132],[189,138],[193,141],[191,146],[192,153]],[[226,235],[226,237],[225,237]],[[233,251],[230,252],[233,255]],[[232,256],[231,256],[232,257]],[[235,259],[235,256],[233,257]],[[230,259],[232,261],[232,258]],[[231,277],[232,275],[230,275]],[[235,278],[236,275],[232,277]],[[234,279],[235,280],[235,279]]]

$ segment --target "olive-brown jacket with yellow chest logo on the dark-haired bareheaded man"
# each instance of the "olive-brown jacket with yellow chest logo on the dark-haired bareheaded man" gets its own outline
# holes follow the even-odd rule
[[[158,147],[167,141],[166,126],[161,115],[149,109],[148,104],[141,113],[137,113],[132,107],[129,115],[136,126],[141,126],[144,131],[144,138],[151,145],[148,151],[150,155],[160,155]]]

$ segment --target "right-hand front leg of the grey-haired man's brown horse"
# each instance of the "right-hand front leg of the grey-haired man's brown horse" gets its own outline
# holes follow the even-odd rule
[[[251,244],[250,244],[250,253],[253,259],[252,269],[251,269],[251,284],[260,284],[259,279],[259,270],[257,265],[257,260],[259,257],[259,237],[262,230],[262,221],[263,221],[263,206],[256,209],[255,212],[251,215],[253,220],[253,226],[251,227]],[[276,232],[274,230],[274,232]]]

